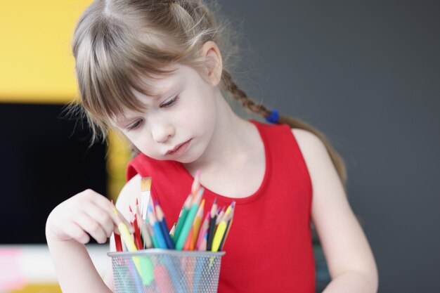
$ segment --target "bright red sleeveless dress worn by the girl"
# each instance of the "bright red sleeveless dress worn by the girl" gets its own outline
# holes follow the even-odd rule
[[[235,214],[221,259],[219,293],[315,292],[311,240],[311,180],[295,136],[287,125],[251,121],[264,142],[266,172],[253,195],[232,199],[205,190],[205,207],[235,200]],[[153,177],[152,197],[172,225],[193,177],[183,165],[141,154],[127,179]],[[169,227],[171,228],[171,227]]]

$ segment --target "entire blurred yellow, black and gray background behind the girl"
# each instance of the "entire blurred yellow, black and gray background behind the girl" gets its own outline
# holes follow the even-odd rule
[[[91,1],[1,1],[0,292],[60,292],[44,245],[48,213],[85,188],[115,198],[127,146],[89,147],[70,41]],[[233,76],[254,100],[309,122],[347,164],[379,292],[439,292],[440,3],[232,1]],[[317,292],[330,280],[318,240]],[[89,245],[101,272],[107,247]]]

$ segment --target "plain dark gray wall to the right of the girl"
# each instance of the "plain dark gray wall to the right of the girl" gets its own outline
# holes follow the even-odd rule
[[[440,292],[439,1],[219,2],[240,85],[344,157],[379,292]]]

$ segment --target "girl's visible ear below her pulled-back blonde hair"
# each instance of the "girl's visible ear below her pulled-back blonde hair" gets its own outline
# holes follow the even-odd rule
[[[207,82],[216,86],[221,81],[221,72],[223,72],[223,61],[219,47],[214,41],[207,41],[200,50],[202,58],[206,59],[206,77]]]

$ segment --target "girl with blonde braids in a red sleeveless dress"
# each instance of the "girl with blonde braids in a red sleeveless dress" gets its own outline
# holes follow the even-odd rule
[[[325,292],[376,292],[342,159],[316,129],[247,98],[226,70],[221,32],[198,0],[96,0],[79,19],[73,53],[94,138],[117,129],[138,152],[118,209],[127,219],[140,178],[152,176],[152,196],[174,222],[200,169],[208,207],[236,202],[219,292],[314,292],[311,222],[332,276]],[[273,124],[238,117],[227,95]],[[53,209],[46,238],[63,292],[112,291],[84,244],[105,242],[115,224],[93,190]]]

